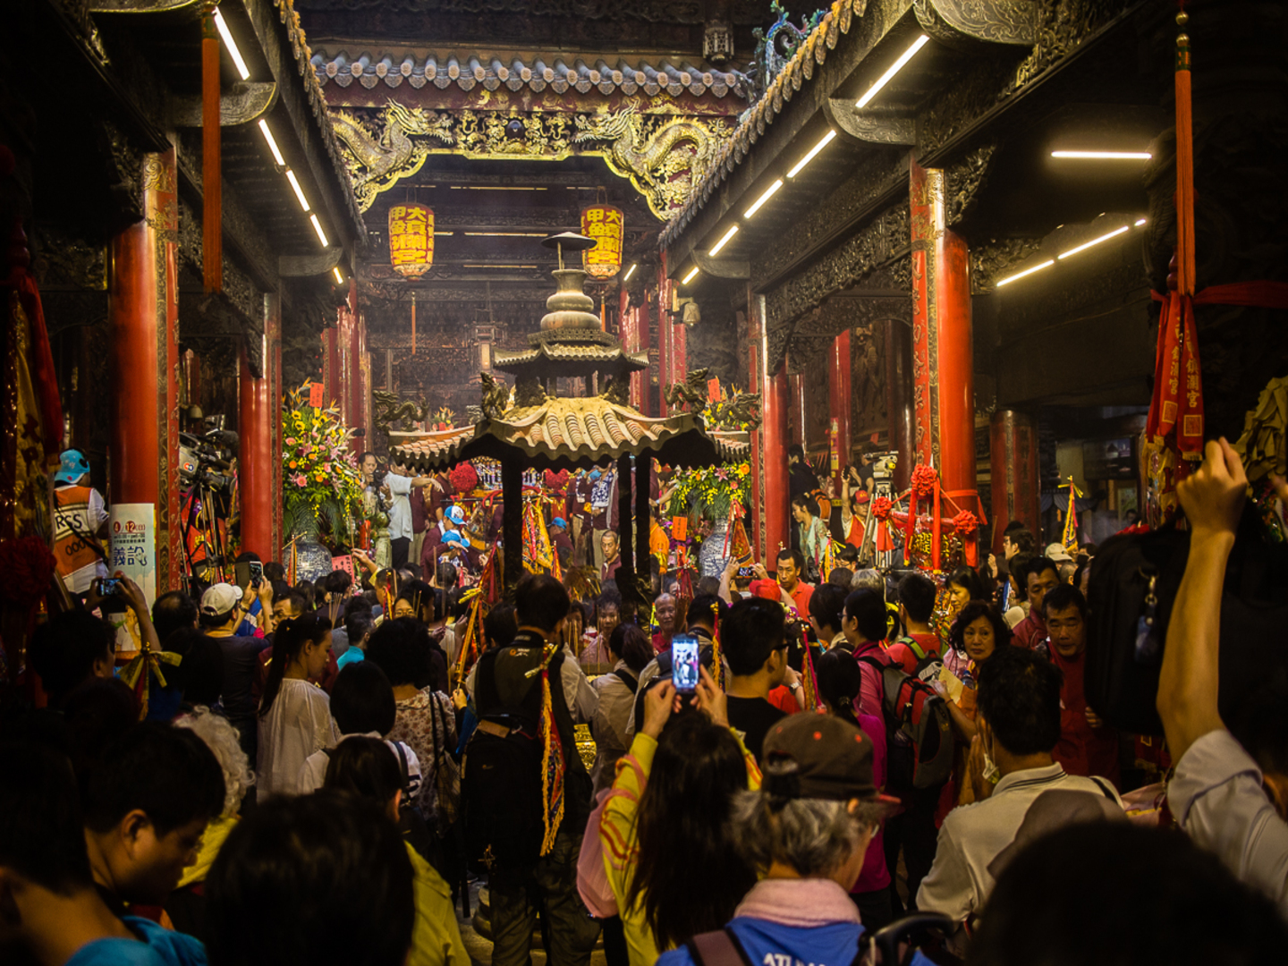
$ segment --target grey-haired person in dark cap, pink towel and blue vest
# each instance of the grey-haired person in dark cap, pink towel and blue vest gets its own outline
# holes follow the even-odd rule
[[[735,837],[764,877],[724,930],[663,953],[658,966],[853,962],[863,925],[850,887],[898,804],[872,781],[872,739],[837,717],[799,714],[770,728],[764,786],[734,806]]]

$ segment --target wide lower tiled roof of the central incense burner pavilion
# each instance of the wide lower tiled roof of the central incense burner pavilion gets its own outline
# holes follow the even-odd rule
[[[518,450],[536,469],[594,466],[623,455],[652,453],[663,462],[710,465],[743,460],[744,433],[707,431],[696,413],[650,419],[603,397],[549,398],[507,410],[501,419],[437,433],[390,433],[390,455],[416,471],[477,456],[501,459]]]

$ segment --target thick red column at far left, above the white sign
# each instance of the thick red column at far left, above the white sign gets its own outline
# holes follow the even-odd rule
[[[156,228],[146,219],[116,234],[109,245],[111,281],[108,401],[111,469],[108,498],[113,504],[160,502],[161,413],[157,393],[157,313],[165,289],[158,286]]]

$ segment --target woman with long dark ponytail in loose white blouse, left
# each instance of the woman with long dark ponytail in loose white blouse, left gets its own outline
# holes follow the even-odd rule
[[[299,795],[304,760],[340,739],[331,699],[309,683],[322,675],[330,656],[331,622],[325,616],[307,613],[277,626],[259,702],[259,801]]]

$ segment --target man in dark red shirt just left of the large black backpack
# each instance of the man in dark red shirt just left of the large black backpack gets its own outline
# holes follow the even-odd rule
[[[1087,650],[1087,600],[1082,591],[1061,583],[1042,600],[1051,635],[1051,663],[1060,668],[1060,743],[1051,756],[1070,775],[1108,778],[1117,787],[1118,733],[1087,707],[1082,688]]]

